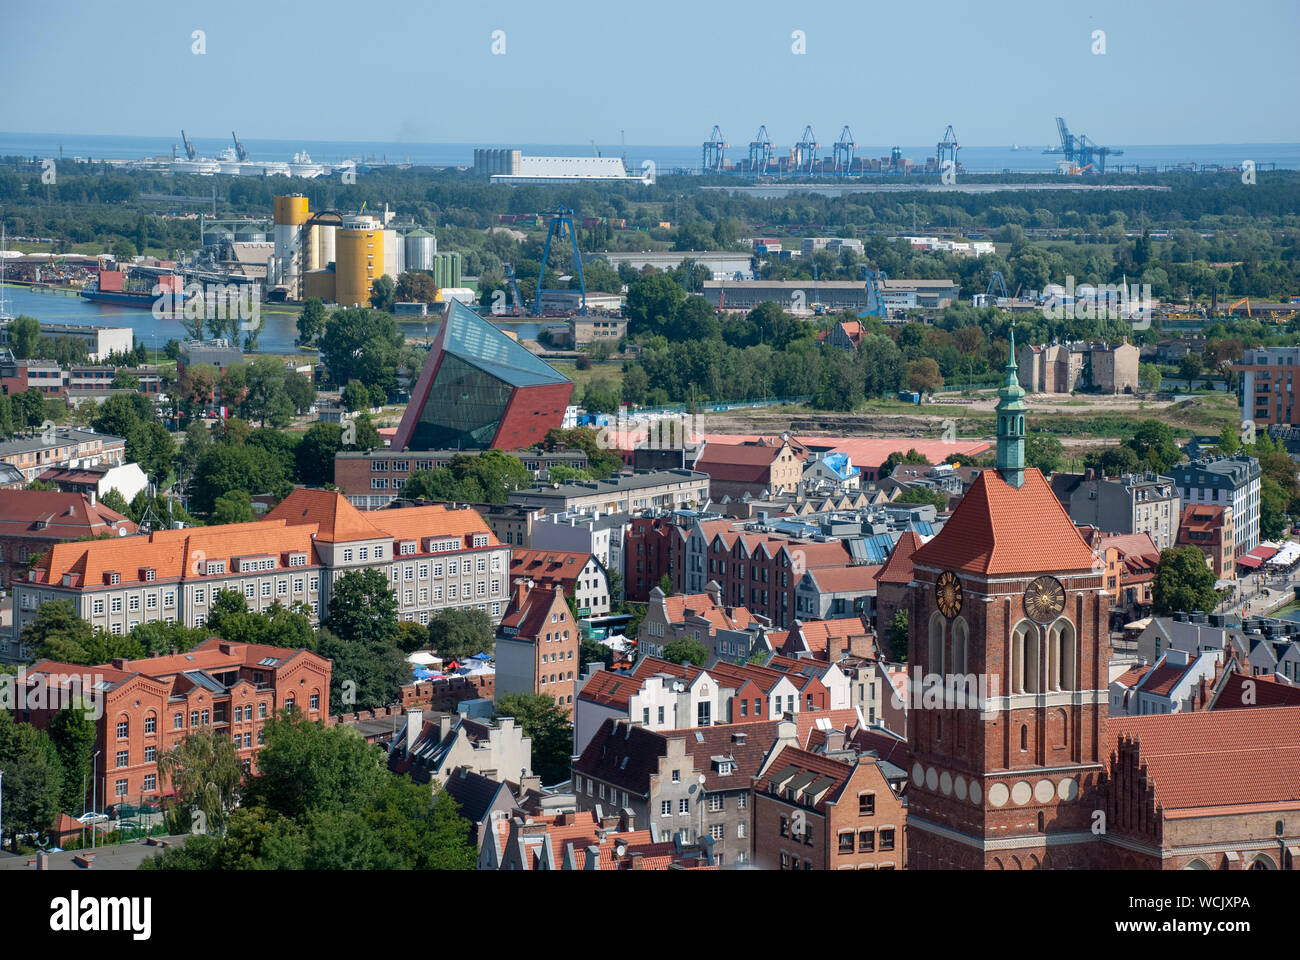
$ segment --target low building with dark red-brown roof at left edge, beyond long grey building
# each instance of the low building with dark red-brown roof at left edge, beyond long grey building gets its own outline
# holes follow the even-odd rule
[[[0,490],[0,583],[26,580],[29,561],[55,544],[116,537],[122,531],[134,533],[136,527],[81,493]]]

